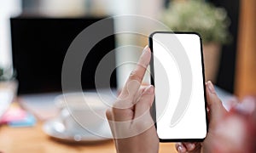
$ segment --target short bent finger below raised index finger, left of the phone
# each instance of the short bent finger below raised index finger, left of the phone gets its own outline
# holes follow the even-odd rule
[[[135,115],[134,118],[137,118],[139,116],[143,116],[143,114],[146,111],[149,111],[152,103],[154,101],[154,86],[149,85],[148,88],[146,88],[137,102],[137,105],[135,106]]]

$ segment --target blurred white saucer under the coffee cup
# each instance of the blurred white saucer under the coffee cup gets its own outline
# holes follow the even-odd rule
[[[69,142],[97,142],[112,139],[112,133],[108,122],[103,122],[102,127],[97,133],[91,133],[88,130],[73,132],[65,129],[60,118],[51,119],[44,123],[44,133],[52,138]]]

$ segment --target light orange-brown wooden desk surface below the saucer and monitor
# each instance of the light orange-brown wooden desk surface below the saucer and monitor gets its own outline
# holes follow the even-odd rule
[[[34,127],[0,127],[0,150],[7,153],[15,152],[115,152],[112,140],[96,144],[72,144],[58,142],[49,138],[42,130],[43,122],[38,122]],[[1,152],[0,151],[0,152]],[[160,153],[177,152],[175,144],[160,144]]]

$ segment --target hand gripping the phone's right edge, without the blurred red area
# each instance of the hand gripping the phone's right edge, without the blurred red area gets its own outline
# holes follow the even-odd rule
[[[178,152],[212,152],[213,145],[212,141],[216,139],[216,128],[224,116],[227,115],[227,111],[224,109],[221,100],[215,92],[212,82],[207,82],[206,84],[207,92],[207,109],[208,109],[208,119],[209,128],[207,133],[207,138],[203,143],[177,143],[176,149]]]

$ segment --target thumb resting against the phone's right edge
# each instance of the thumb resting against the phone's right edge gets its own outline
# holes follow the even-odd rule
[[[208,117],[210,122],[210,128],[214,126],[215,122],[223,119],[227,111],[222,105],[221,100],[218,98],[216,91],[212,85],[212,82],[207,82],[207,107],[209,109]]]

